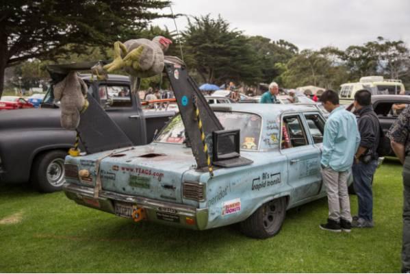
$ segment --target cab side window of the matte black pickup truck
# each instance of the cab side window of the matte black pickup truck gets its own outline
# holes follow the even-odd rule
[[[99,97],[103,108],[131,108],[129,86],[99,85]]]

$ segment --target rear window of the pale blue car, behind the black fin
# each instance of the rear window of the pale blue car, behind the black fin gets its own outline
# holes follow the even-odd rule
[[[241,149],[257,150],[261,132],[261,117],[244,112],[215,112],[225,129],[240,129]],[[182,144],[185,141],[185,127],[178,114],[164,127],[155,142]]]

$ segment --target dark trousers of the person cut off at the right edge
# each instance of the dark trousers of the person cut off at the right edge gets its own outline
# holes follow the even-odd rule
[[[410,156],[403,166],[403,243],[402,272],[410,271]]]

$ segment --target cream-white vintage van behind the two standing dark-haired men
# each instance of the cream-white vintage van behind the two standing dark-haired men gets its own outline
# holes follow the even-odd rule
[[[355,99],[357,90],[366,89],[372,95],[398,95],[405,94],[405,86],[401,80],[384,79],[383,76],[361,77],[357,83],[346,83],[340,86],[340,103],[350,103]]]

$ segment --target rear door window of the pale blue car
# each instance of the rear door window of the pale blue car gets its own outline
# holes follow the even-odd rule
[[[304,145],[307,145],[307,138],[299,116],[283,117],[281,149],[290,149]]]

